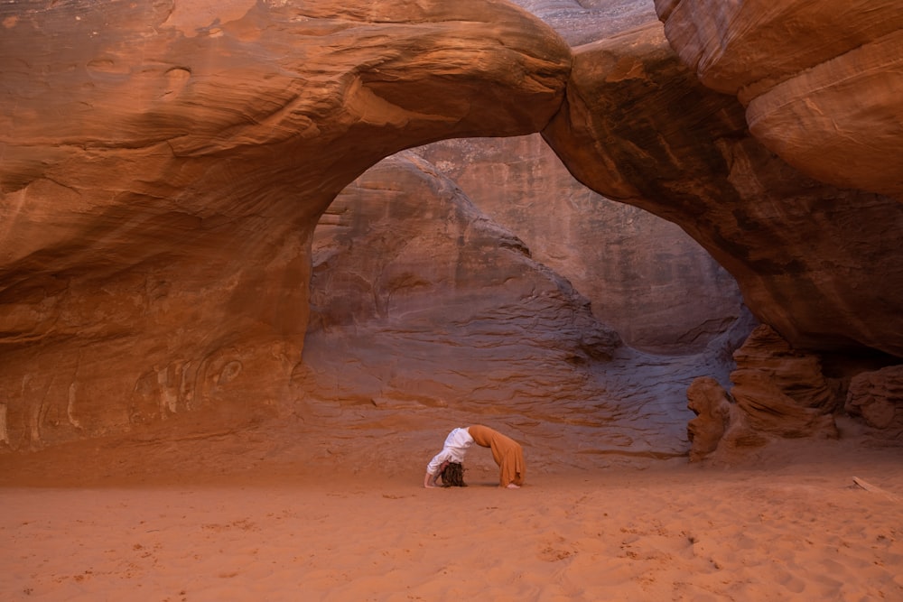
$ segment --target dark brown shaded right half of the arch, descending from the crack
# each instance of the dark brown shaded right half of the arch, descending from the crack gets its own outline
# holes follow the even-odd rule
[[[659,23],[575,49],[543,135],[591,189],[683,227],[793,347],[903,356],[901,204],[811,180],[768,151]]]

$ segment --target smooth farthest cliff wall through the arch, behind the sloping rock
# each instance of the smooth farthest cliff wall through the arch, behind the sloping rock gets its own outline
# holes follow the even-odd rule
[[[419,148],[631,347],[696,353],[740,316],[729,273],[683,230],[575,181],[538,135]]]

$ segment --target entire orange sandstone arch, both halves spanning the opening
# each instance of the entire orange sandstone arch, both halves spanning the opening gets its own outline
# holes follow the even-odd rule
[[[593,190],[684,227],[791,345],[903,356],[900,203],[779,159],[661,23],[572,51],[500,0],[0,11],[14,449],[290,399],[317,218],[379,159],[455,136],[542,130]]]

